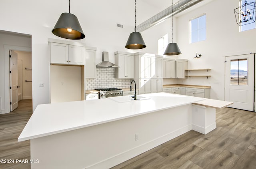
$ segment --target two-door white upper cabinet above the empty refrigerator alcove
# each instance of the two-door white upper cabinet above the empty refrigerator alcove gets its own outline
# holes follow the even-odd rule
[[[51,64],[84,65],[85,49],[83,46],[73,46],[50,42]]]

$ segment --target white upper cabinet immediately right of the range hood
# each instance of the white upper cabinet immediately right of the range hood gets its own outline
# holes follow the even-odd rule
[[[115,69],[115,78],[134,78],[134,56],[128,52],[115,52],[115,64],[119,68]]]

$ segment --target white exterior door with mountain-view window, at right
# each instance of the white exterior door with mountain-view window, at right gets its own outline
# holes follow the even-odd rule
[[[229,107],[254,111],[254,54],[225,57],[225,101]]]

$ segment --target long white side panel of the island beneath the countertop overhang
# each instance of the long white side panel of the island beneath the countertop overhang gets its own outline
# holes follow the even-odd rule
[[[191,129],[188,104],[31,139],[31,159],[39,160],[31,168],[109,168]]]

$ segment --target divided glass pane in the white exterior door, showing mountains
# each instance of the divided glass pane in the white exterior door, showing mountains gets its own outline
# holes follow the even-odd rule
[[[230,60],[230,84],[248,85],[248,60]]]

